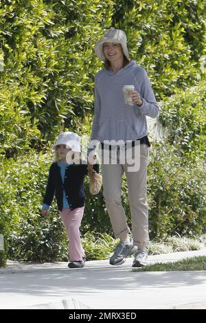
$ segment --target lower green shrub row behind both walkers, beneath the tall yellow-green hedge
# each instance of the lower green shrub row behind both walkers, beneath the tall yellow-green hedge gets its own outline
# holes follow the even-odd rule
[[[187,100],[186,100],[187,98]],[[164,100],[161,122],[167,126],[163,142],[154,142],[148,166],[150,238],[175,234],[198,236],[205,233],[205,98],[206,86]],[[178,115],[178,118],[176,117]],[[87,127],[83,130],[87,130]],[[187,140],[187,144],[185,144]],[[5,225],[8,256],[20,260],[60,260],[67,258],[67,238],[56,202],[49,219],[41,214],[49,151],[1,162],[0,225]],[[102,192],[91,196],[86,180],[87,203],[81,232],[111,234],[111,223]],[[130,212],[125,178],[122,201],[128,222]]]

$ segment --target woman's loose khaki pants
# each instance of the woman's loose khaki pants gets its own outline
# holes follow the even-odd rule
[[[134,245],[137,245],[140,249],[145,249],[149,241],[148,206],[146,201],[148,150],[149,148],[146,144],[139,145],[139,155],[136,155],[136,158],[139,158],[139,170],[135,172],[129,170],[130,165],[127,161],[124,161],[124,164],[121,163],[118,151],[117,164],[104,164],[104,161],[102,161],[103,195],[114,234],[121,241],[124,241],[130,232],[121,199],[122,175],[125,172],[128,184],[133,241]]]

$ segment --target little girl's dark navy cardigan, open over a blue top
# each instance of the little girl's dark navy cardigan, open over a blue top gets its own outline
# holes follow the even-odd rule
[[[95,164],[93,169],[99,172],[99,164]],[[84,192],[84,176],[88,174],[87,164],[72,164],[66,167],[65,181],[62,183],[60,175],[60,167],[54,162],[49,168],[49,177],[47,181],[47,189],[43,203],[51,205],[56,197],[58,210],[62,211],[63,206],[63,190],[65,190],[68,198],[69,208],[81,208],[84,206],[85,192]]]

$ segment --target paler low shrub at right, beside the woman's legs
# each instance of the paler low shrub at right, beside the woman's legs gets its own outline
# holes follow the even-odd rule
[[[205,231],[205,161],[183,159],[174,146],[156,144],[148,168],[150,237]]]

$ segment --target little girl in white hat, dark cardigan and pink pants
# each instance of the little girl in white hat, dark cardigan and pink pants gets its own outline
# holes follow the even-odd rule
[[[54,194],[62,222],[69,238],[69,268],[81,268],[85,265],[85,253],[80,241],[80,223],[84,214],[84,176],[87,175],[87,164],[75,164],[80,157],[80,137],[67,131],[60,133],[54,144],[56,160],[49,169],[49,177],[43,208],[43,216],[48,215]],[[93,166],[99,172],[99,165]]]

